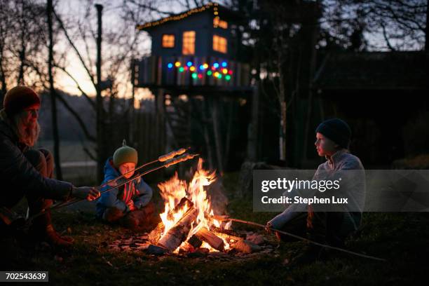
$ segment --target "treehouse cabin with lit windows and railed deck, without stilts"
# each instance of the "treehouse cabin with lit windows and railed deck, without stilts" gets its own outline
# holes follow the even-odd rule
[[[137,26],[151,56],[133,64],[135,87],[200,92],[250,88],[250,65],[237,61],[240,14],[216,3]]]

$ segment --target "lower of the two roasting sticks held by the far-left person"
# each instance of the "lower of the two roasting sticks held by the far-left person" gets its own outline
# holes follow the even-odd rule
[[[151,170],[147,170],[146,172],[142,172],[142,173],[140,173],[138,175],[135,175],[134,177],[131,177],[130,179],[125,180],[125,182],[122,182],[121,184],[118,184],[116,186],[111,186],[109,189],[105,189],[104,191],[101,191],[100,193],[106,193],[108,191],[111,191],[112,189],[116,189],[116,188],[118,188],[120,186],[123,186],[124,184],[128,184],[129,182],[132,182],[132,181],[134,181],[135,179],[137,179],[139,177],[147,175],[150,172],[154,172],[154,171],[162,169],[162,168],[168,168],[171,165],[175,165],[177,163],[181,163],[181,162],[184,162],[184,161],[191,160],[192,158],[195,158],[196,156],[200,156],[200,155],[199,154],[187,154],[187,153],[185,153],[182,156],[179,156],[177,158],[174,158],[174,156],[173,156],[173,158],[170,157],[169,160],[165,159],[164,161],[161,161],[161,162],[165,162],[163,165],[158,166],[156,168],[152,168]],[[95,189],[100,189],[100,187],[101,186],[98,186]],[[43,214],[44,212],[46,212],[46,210],[57,210],[60,207],[67,207],[67,206],[73,205],[74,203],[77,203],[77,202],[79,202],[81,200],[86,200],[86,199],[85,198],[80,198],[80,199],[77,199],[77,200],[67,200],[67,203],[57,204],[57,205],[53,205],[51,207],[48,207],[48,208],[42,210],[41,212],[39,212],[38,214],[34,214],[32,217],[29,217],[29,221],[31,221],[32,219],[34,219],[36,217],[39,217],[41,214]]]

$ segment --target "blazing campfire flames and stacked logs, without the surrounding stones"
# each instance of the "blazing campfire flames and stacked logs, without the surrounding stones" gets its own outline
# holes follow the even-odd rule
[[[206,188],[216,179],[214,172],[203,169],[203,160],[189,184],[177,173],[158,185],[164,200],[162,222],[149,233],[151,243],[170,252],[193,252],[205,248],[209,252],[227,251],[235,240],[227,232],[231,222],[222,222],[214,216]]]

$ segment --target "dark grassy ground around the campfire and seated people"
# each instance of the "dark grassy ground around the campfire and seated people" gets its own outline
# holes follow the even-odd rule
[[[234,199],[237,179],[237,174],[227,174],[224,181],[231,217],[265,224],[275,213],[252,212],[251,200]],[[159,197],[155,200],[159,207]],[[104,242],[128,231],[101,224],[83,210],[59,210],[53,217],[57,229],[75,239],[74,247],[23,250],[6,240],[1,243],[1,270],[49,271],[55,285],[416,285],[426,280],[429,269],[427,213],[365,213],[362,231],[347,247],[386,262],[335,252],[327,261],[305,266],[290,263],[304,243],[280,243],[278,255],[229,260],[111,252]]]

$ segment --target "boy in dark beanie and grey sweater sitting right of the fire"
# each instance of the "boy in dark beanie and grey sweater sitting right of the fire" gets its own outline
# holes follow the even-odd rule
[[[350,205],[348,205],[342,212],[317,211],[309,205],[306,211],[303,205],[292,204],[271,219],[267,226],[298,236],[306,236],[308,233],[308,238],[318,243],[343,247],[344,240],[357,230],[362,221],[362,209],[365,203],[365,169],[360,159],[348,151],[351,130],[345,121],[339,118],[329,119],[320,123],[315,132],[315,147],[318,155],[325,157],[327,161],[319,165],[313,179],[320,181],[343,177],[341,191],[346,193],[353,203],[353,210],[349,210]],[[353,178],[344,180],[344,177],[350,174],[353,174]],[[281,233],[275,234],[280,240],[291,240]],[[318,257],[320,257],[320,247],[312,245],[296,260],[306,263]]]

